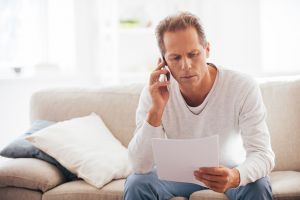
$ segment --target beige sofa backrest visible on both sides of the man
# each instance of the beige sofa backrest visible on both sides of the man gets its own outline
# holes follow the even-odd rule
[[[275,170],[300,171],[300,79],[269,81],[260,86],[276,155]],[[95,112],[114,136],[128,146],[134,134],[135,110],[142,88],[142,84],[132,84],[42,90],[31,98],[31,121],[63,121]]]

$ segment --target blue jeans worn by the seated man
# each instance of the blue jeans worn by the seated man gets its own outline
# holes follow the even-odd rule
[[[165,200],[181,196],[189,198],[196,191],[206,187],[173,181],[159,180],[156,171],[147,174],[131,174],[125,182],[124,200]],[[268,177],[238,188],[228,189],[225,195],[230,200],[267,200],[272,199],[272,189]]]

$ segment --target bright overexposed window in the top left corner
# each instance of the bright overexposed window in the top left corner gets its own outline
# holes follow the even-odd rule
[[[72,0],[3,0],[0,25],[1,76],[74,70]]]

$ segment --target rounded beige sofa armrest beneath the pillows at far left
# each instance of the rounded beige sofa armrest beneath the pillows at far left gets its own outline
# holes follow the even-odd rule
[[[17,158],[0,165],[0,187],[20,187],[46,192],[65,182],[54,166],[35,158]]]

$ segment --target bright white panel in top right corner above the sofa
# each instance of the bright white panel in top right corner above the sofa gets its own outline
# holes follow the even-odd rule
[[[300,1],[261,1],[262,66],[265,72],[300,72]]]

